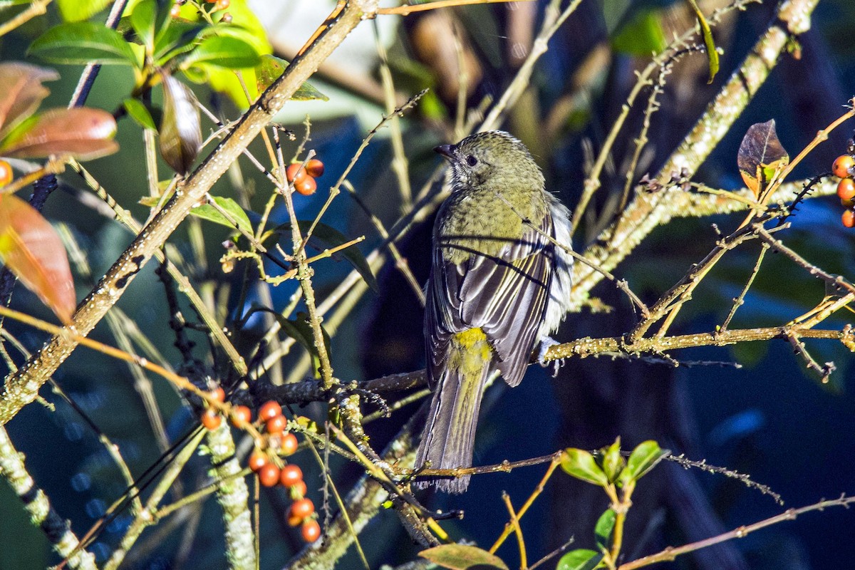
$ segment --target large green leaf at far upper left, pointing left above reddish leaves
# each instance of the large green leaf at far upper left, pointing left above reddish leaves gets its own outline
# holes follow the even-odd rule
[[[52,63],[138,65],[130,44],[103,24],[80,21],[50,28],[36,39],[29,55]]]

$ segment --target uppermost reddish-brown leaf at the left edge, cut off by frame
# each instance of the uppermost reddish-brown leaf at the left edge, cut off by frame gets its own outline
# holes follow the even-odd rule
[[[48,88],[42,81],[59,79],[53,69],[37,68],[27,63],[0,63],[0,137],[21,120],[38,109],[39,103],[48,96]]]

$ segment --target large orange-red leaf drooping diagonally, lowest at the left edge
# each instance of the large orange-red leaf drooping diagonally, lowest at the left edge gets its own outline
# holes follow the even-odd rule
[[[74,280],[62,241],[42,214],[12,194],[0,195],[0,258],[63,323],[71,321]]]

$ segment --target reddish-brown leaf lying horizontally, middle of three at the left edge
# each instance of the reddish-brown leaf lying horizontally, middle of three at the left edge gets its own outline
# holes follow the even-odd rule
[[[50,109],[22,126],[0,146],[0,155],[40,158],[74,156],[91,160],[119,150],[113,140],[115,119],[101,109]]]

